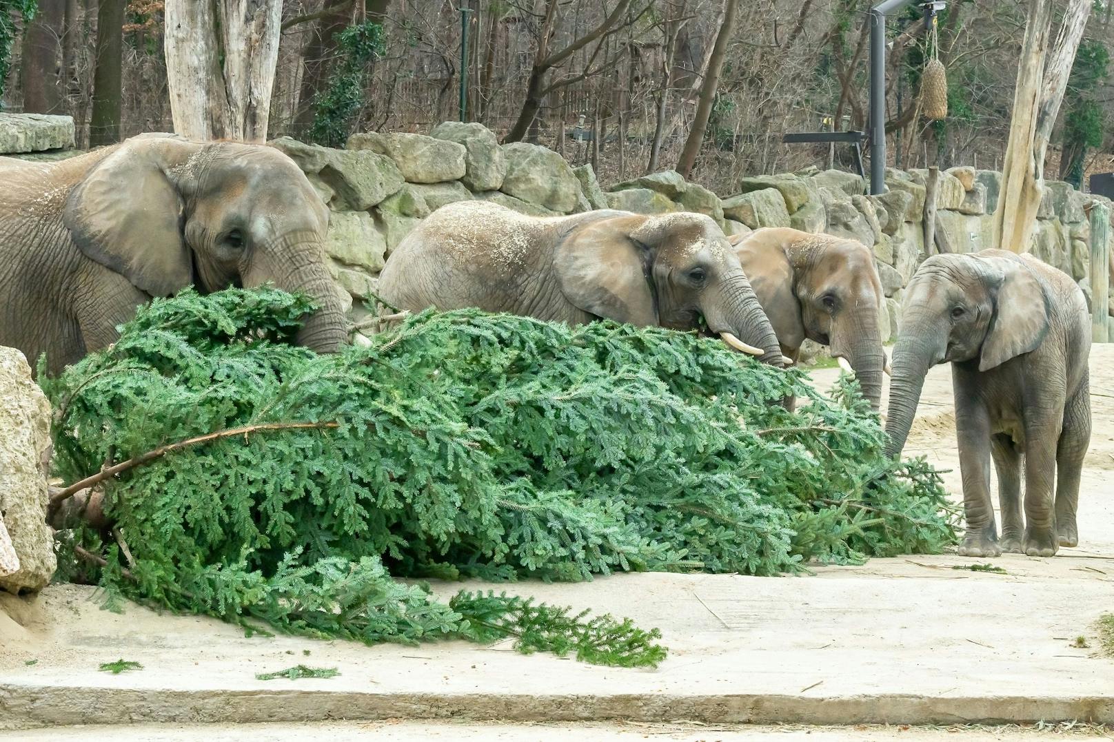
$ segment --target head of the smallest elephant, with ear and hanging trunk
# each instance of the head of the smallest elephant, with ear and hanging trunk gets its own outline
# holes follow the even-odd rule
[[[905,448],[925,375],[937,363],[988,371],[1028,353],[1048,332],[1044,285],[1014,253],[934,255],[906,287],[886,421],[886,452]]]

